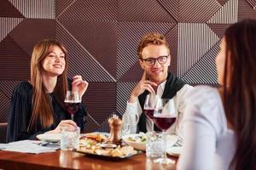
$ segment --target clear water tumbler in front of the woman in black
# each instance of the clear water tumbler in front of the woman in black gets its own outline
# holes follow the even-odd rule
[[[77,127],[74,131],[70,131],[67,128],[61,129],[61,150],[78,150],[80,138],[80,127]]]

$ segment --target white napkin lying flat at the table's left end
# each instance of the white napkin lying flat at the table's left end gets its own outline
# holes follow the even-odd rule
[[[47,147],[39,145],[36,140],[20,140],[9,144],[0,144],[0,150],[16,151],[22,153],[40,154],[54,152],[59,147]]]

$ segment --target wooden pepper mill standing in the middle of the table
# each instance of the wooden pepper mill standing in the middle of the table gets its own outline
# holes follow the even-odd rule
[[[119,116],[113,115],[108,119],[110,134],[108,142],[112,144],[121,144],[121,129],[122,121],[119,119]]]

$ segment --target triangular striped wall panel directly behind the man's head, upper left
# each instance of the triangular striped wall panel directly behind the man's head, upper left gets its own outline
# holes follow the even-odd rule
[[[117,47],[117,78],[119,79],[138,60],[137,46],[147,33],[157,31],[166,34],[176,23],[119,22]]]

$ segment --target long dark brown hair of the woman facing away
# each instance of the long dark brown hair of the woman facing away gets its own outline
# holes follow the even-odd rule
[[[224,109],[236,132],[236,153],[230,168],[256,169],[256,20],[231,25],[224,38]]]

